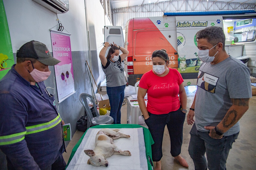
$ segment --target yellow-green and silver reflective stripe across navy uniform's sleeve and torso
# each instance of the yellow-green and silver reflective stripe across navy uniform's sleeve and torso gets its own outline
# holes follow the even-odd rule
[[[15,134],[6,135],[6,136],[0,136],[0,145],[8,145],[8,144],[22,141],[25,138],[25,135],[42,132],[44,130],[55,127],[60,122],[61,122],[61,118],[58,114],[58,116],[54,120],[51,120],[50,122],[46,122],[46,123],[42,123],[34,126],[27,126],[26,127],[27,131],[25,132],[15,133]]]

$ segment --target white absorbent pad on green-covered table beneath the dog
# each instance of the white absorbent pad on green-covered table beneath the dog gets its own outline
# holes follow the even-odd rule
[[[143,136],[143,128],[120,128],[119,132],[130,135],[130,138],[119,138],[114,140],[114,145],[119,149],[125,151],[129,150],[131,156],[125,156],[121,154],[113,154],[109,158],[106,158],[109,162],[108,167],[105,166],[93,166],[87,164],[88,155],[84,153],[86,149],[94,149],[95,137],[100,128],[89,128],[84,135],[84,138],[70,161],[67,170],[77,169],[104,169],[104,170],[146,170],[147,159],[146,150]]]

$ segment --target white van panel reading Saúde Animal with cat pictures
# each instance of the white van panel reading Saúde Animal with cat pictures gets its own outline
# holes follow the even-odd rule
[[[210,26],[223,28],[222,16],[176,17],[178,71],[180,73],[195,73],[199,71],[202,61],[197,56],[196,33]]]

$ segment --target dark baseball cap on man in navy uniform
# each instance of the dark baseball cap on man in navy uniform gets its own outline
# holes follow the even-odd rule
[[[21,46],[17,51],[16,57],[34,58],[47,66],[54,66],[60,62],[60,60],[51,56],[51,53],[45,44],[34,40]]]

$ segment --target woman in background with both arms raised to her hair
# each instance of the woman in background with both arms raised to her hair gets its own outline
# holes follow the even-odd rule
[[[107,48],[109,49],[105,57]],[[119,55],[120,50],[123,54]],[[106,89],[110,103],[110,116],[114,119],[114,124],[121,124],[121,107],[124,100],[124,89],[126,85],[124,68],[121,62],[128,56],[129,51],[125,48],[109,42],[104,43],[100,51],[100,61],[103,72],[106,75]]]

